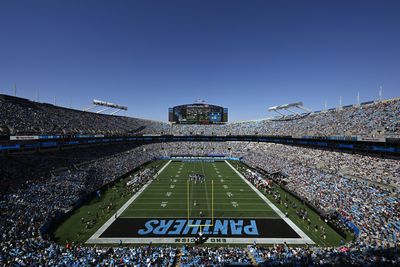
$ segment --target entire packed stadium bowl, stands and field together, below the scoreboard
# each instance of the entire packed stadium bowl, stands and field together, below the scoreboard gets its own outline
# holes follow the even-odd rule
[[[0,101],[5,265],[398,261],[399,99],[207,125]]]

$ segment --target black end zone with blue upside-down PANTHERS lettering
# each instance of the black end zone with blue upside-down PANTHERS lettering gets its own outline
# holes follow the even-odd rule
[[[100,238],[300,238],[281,218],[117,218]]]

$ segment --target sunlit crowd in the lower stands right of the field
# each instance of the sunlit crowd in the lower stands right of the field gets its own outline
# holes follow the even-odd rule
[[[292,151],[290,157],[297,155],[296,161],[290,157],[283,157],[276,149],[270,150],[271,146],[281,145],[252,145],[255,147],[244,156],[244,162],[271,173],[282,173],[283,182],[289,191],[326,213],[341,214],[343,220],[356,225],[360,230],[359,240],[383,245],[395,245],[398,242],[398,187],[388,188],[363,179],[349,178],[339,172],[324,171],[307,163],[307,160],[300,160],[304,150]],[[332,161],[334,160],[333,157]],[[370,164],[374,162],[376,161]]]

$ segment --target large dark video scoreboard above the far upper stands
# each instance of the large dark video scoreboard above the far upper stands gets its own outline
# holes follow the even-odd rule
[[[228,121],[228,109],[209,104],[188,104],[169,109],[169,121],[178,124],[217,124]]]

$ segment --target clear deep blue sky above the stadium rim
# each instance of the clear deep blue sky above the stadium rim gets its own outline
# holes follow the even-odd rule
[[[0,1],[0,93],[93,98],[167,120],[197,98],[230,121],[400,96],[400,1]]]

